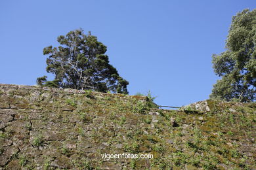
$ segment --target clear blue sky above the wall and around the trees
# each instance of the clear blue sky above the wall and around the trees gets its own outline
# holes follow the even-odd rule
[[[81,27],[108,46],[131,95],[151,90],[159,105],[207,99],[232,16],[251,1],[1,1],[0,83],[34,85],[47,75],[45,46]]]

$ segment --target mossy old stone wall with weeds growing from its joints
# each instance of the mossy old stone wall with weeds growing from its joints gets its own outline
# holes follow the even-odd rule
[[[255,103],[205,102],[0,84],[0,169],[253,169]],[[154,159],[101,156],[122,153]]]

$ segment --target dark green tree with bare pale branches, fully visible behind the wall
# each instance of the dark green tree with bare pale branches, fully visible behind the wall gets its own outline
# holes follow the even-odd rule
[[[77,90],[95,90],[99,92],[128,93],[129,82],[110,65],[105,54],[106,46],[97,38],[83,33],[82,29],[70,31],[66,36],[57,38],[60,46],[47,46],[43,54],[48,55],[47,72],[53,73],[53,81],[47,76],[37,78],[41,86],[74,88]]]

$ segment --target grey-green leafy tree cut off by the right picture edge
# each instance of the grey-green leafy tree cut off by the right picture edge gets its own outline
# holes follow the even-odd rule
[[[213,69],[221,80],[213,85],[212,99],[255,101],[256,9],[245,9],[232,18],[226,51],[213,54]]]

